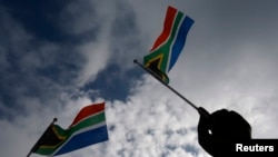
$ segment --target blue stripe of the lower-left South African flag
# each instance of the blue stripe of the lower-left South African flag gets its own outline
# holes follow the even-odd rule
[[[67,144],[60,148],[54,156],[73,151],[89,145],[108,140],[107,126],[99,127],[97,129],[88,130],[78,135],[75,135]]]

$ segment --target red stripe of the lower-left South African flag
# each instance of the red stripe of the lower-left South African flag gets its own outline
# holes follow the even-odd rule
[[[72,121],[72,124],[70,125],[70,127],[76,125],[77,122],[79,122],[83,118],[91,116],[96,112],[102,111],[102,110],[105,110],[105,102],[90,105],[90,106],[82,108],[79,111],[79,114],[77,115],[77,117],[75,118],[75,120]]]

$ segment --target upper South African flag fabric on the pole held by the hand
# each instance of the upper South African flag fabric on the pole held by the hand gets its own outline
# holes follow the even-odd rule
[[[143,57],[143,65],[166,84],[169,84],[167,73],[171,70],[183,49],[187,33],[192,23],[191,18],[169,6],[163,30],[153,43],[150,53]]]

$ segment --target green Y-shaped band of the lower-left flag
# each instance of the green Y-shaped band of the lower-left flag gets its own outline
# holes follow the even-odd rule
[[[66,137],[63,141],[66,141],[72,134],[75,134],[76,131],[80,130],[80,129],[83,129],[86,127],[89,127],[89,126],[93,126],[93,125],[97,125],[101,121],[105,121],[106,120],[106,116],[105,116],[105,112],[101,112],[99,115],[96,115],[96,116],[92,116],[88,119],[85,119],[80,122],[78,122],[76,126],[71,127],[70,129],[66,130],[66,129],[62,129],[61,127],[59,126],[54,126],[56,127],[56,130],[58,133],[59,136],[61,137]],[[62,144],[62,143],[61,143]],[[40,154],[40,155],[50,155],[50,154],[53,154],[54,150],[61,146],[58,145],[56,147],[40,147],[36,153],[37,154]]]

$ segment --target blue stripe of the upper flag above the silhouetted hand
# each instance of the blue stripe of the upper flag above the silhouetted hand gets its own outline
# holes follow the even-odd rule
[[[170,58],[170,65],[168,71],[173,67],[175,62],[177,61],[187,39],[187,33],[189,29],[191,28],[193,23],[193,20],[189,17],[186,17],[182,20],[182,23],[178,30],[178,35],[176,40],[173,41],[172,49],[171,49],[171,58]]]

